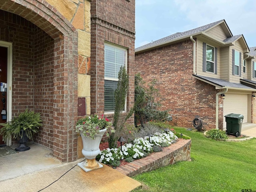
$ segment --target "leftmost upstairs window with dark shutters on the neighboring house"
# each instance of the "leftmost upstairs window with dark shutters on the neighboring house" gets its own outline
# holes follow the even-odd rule
[[[203,72],[217,74],[217,48],[203,43]]]

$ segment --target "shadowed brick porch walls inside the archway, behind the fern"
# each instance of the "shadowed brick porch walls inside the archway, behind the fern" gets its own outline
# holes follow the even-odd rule
[[[26,108],[40,112],[43,127],[35,142],[52,148],[54,41],[16,14],[0,10],[0,22],[0,40],[13,43],[12,116]]]

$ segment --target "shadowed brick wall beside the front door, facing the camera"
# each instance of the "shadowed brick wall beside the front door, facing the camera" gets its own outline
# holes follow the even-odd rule
[[[34,108],[34,24],[0,10],[0,40],[13,43],[12,114]],[[8,101],[10,102],[10,101]]]

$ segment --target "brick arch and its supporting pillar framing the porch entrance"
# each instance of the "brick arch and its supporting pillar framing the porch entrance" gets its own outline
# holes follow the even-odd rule
[[[52,130],[54,156],[62,162],[76,160],[78,34],[76,29],[45,0],[0,0],[0,10],[16,14],[42,29],[54,41]],[[44,122],[46,121],[46,116]],[[39,142],[40,143],[40,142]],[[44,142],[42,142],[44,143]]]

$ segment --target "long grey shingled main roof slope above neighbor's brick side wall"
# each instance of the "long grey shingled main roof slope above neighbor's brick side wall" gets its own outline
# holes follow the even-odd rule
[[[207,25],[195,28],[195,29],[191,29],[191,30],[181,32],[181,33],[172,34],[170,36],[167,36],[167,37],[164,37],[162,39],[156,40],[154,42],[148,43],[146,45],[140,46],[140,47],[135,49],[135,52],[139,51],[139,50],[144,50],[144,49],[147,49],[147,48],[150,48],[150,47],[154,47],[154,46],[157,46],[157,45],[160,45],[160,44],[164,44],[164,43],[167,43],[167,42],[172,41],[172,40],[176,40],[176,39],[179,39],[179,38],[184,38],[184,37],[187,37],[187,36],[191,36],[191,35],[194,35],[198,32],[207,31],[208,29],[210,29],[213,26],[216,26],[216,25],[218,25],[222,22],[225,22],[225,20],[222,19],[222,20],[219,20],[219,21],[216,21],[216,22],[213,22],[213,23],[210,23],[210,24],[207,24]]]

